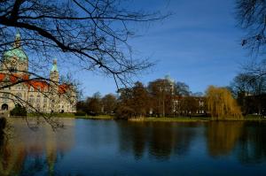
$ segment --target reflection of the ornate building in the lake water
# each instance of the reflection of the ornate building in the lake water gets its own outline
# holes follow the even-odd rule
[[[0,150],[0,175],[54,175],[54,165],[62,157],[59,154],[74,145],[74,120],[64,120],[65,129],[57,132],[47,124],[34,132],[25,120],[12,120],[14,135]]]

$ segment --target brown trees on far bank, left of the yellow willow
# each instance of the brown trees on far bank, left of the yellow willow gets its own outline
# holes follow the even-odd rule
[[[95,93],[77,103],[79,113],[115,115],[121,119],[137,117],[174,117],[204,113],[202,93],[192,94],[184,82],[169,78],[153,80],[145,86],[135,82],[131,88],[121,88],[117,95]]]

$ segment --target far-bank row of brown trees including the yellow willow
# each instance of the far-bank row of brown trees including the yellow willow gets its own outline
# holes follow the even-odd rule
[[[215,117],[239,118],[241,109],[229,88],[210,86],[205,95],[192,93],[189,86],[166,77],[137,81],[131,88],[121,88],[117,95],[95,93],[77,103],[77,115],[113,115],[119,119],[144,117]]]

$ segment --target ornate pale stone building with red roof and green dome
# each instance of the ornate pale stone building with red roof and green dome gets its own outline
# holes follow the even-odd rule
[[[4,52],[0,67],[0,111],[11,111],[16,104],[28,112],[75,112],[77,93],[72,84],[59,84],[57,61],[50,79],[35,79],[28,72],[28,57],[16,34],[11,50]]]

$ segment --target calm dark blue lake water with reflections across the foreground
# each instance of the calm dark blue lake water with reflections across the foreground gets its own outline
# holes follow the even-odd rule
[[[13,119],[0,175],[266,175],[266,123],[64,123],[33,132]]]

